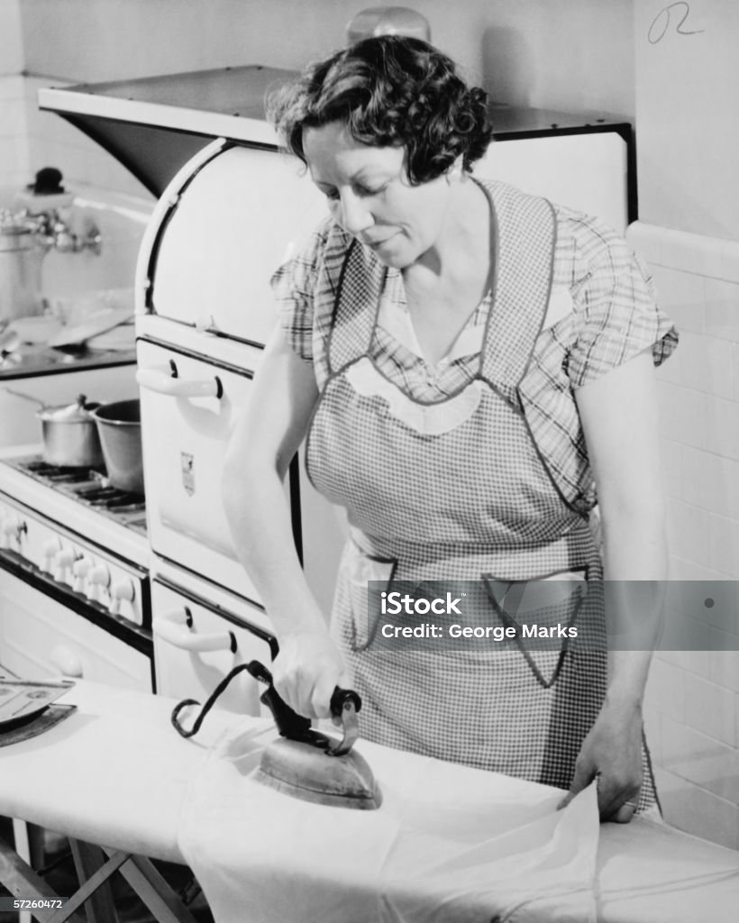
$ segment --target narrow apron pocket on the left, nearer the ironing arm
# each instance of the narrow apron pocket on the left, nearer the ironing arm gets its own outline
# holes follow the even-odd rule
[[[366,650],[375,639],[380,617],[380,593],[389,589],[398,567],[395,557],[367,555],[351,540],[342,569],[352,606],[352,650]]]

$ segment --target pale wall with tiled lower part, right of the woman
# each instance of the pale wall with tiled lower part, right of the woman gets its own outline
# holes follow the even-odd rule
[[[668,820],[739,848],[739,5],[666,6],[635,0],[631,239],[681,334],[659,374],[671,577],[720,598],[668,612],[695,644],[657,655],[647,725]]]

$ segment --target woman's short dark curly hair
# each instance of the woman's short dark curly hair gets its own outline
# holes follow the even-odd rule
[[[492,136],[487,95],[469,88],[433,45],[399,35],[364,39],[316,64],[268,99],[282,143],[304,163],[304,128],[343,122],[352,138],[402,147],[411,184],[465,170]]]

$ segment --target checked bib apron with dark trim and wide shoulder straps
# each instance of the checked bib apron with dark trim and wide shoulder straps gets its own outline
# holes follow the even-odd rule
[[[549,301],[554,212],[511,187],[485,188],[495,282],[476,374],[433,403],[383,377],[371,347],[388,270],[354,242],[306,465],[352,527],[331,630],[363,697],[363,736],[567,788],[602,704],[604,642],[599,650],[583,650],[579,638],[566,650],[525,650],[518,641],[400,650],[374,643],[377,625],[367,617],[368,580],[386,581],[388,592],[399,582],[479,581],[503,588],[504,598],[524,581],[602,578],[590,525],[550,476],[518,398]],[[502,608],[489,605],[489,623],[506,624],[505,599]],[[568,597],[560,615],[580,637],[604,637],[598,593],[581,603],[579,594]],[[646,751],[644,759],[646,767]],[[645,772],[639,808],[653,800]]]

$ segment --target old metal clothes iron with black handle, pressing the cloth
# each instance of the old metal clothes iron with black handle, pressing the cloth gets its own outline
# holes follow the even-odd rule
[[[266,666],[246,665],[267,689],[260,696],[272,713],[280,737],[268,744],[253,778],[285,795],[336,808],[374,810],[382,794],[364,757],[352,749],[359,733],[357,712],[362,700],[352,689],[334,689],[331,714],[340,717],[343,737],[337,741],[311,727],[310,719],[293,712],[280,699]]]

